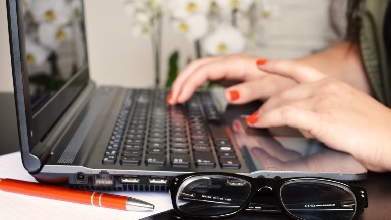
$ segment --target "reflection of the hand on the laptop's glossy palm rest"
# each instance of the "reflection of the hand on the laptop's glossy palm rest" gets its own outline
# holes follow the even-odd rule
[[[322,176],[355,179],[366,168],[350,154],[330,149],[288,127],[254,129],[243,117],[231,122],[237,145],[250,172],[269,177]],[[359,177],[357,177],[359,178]]]

